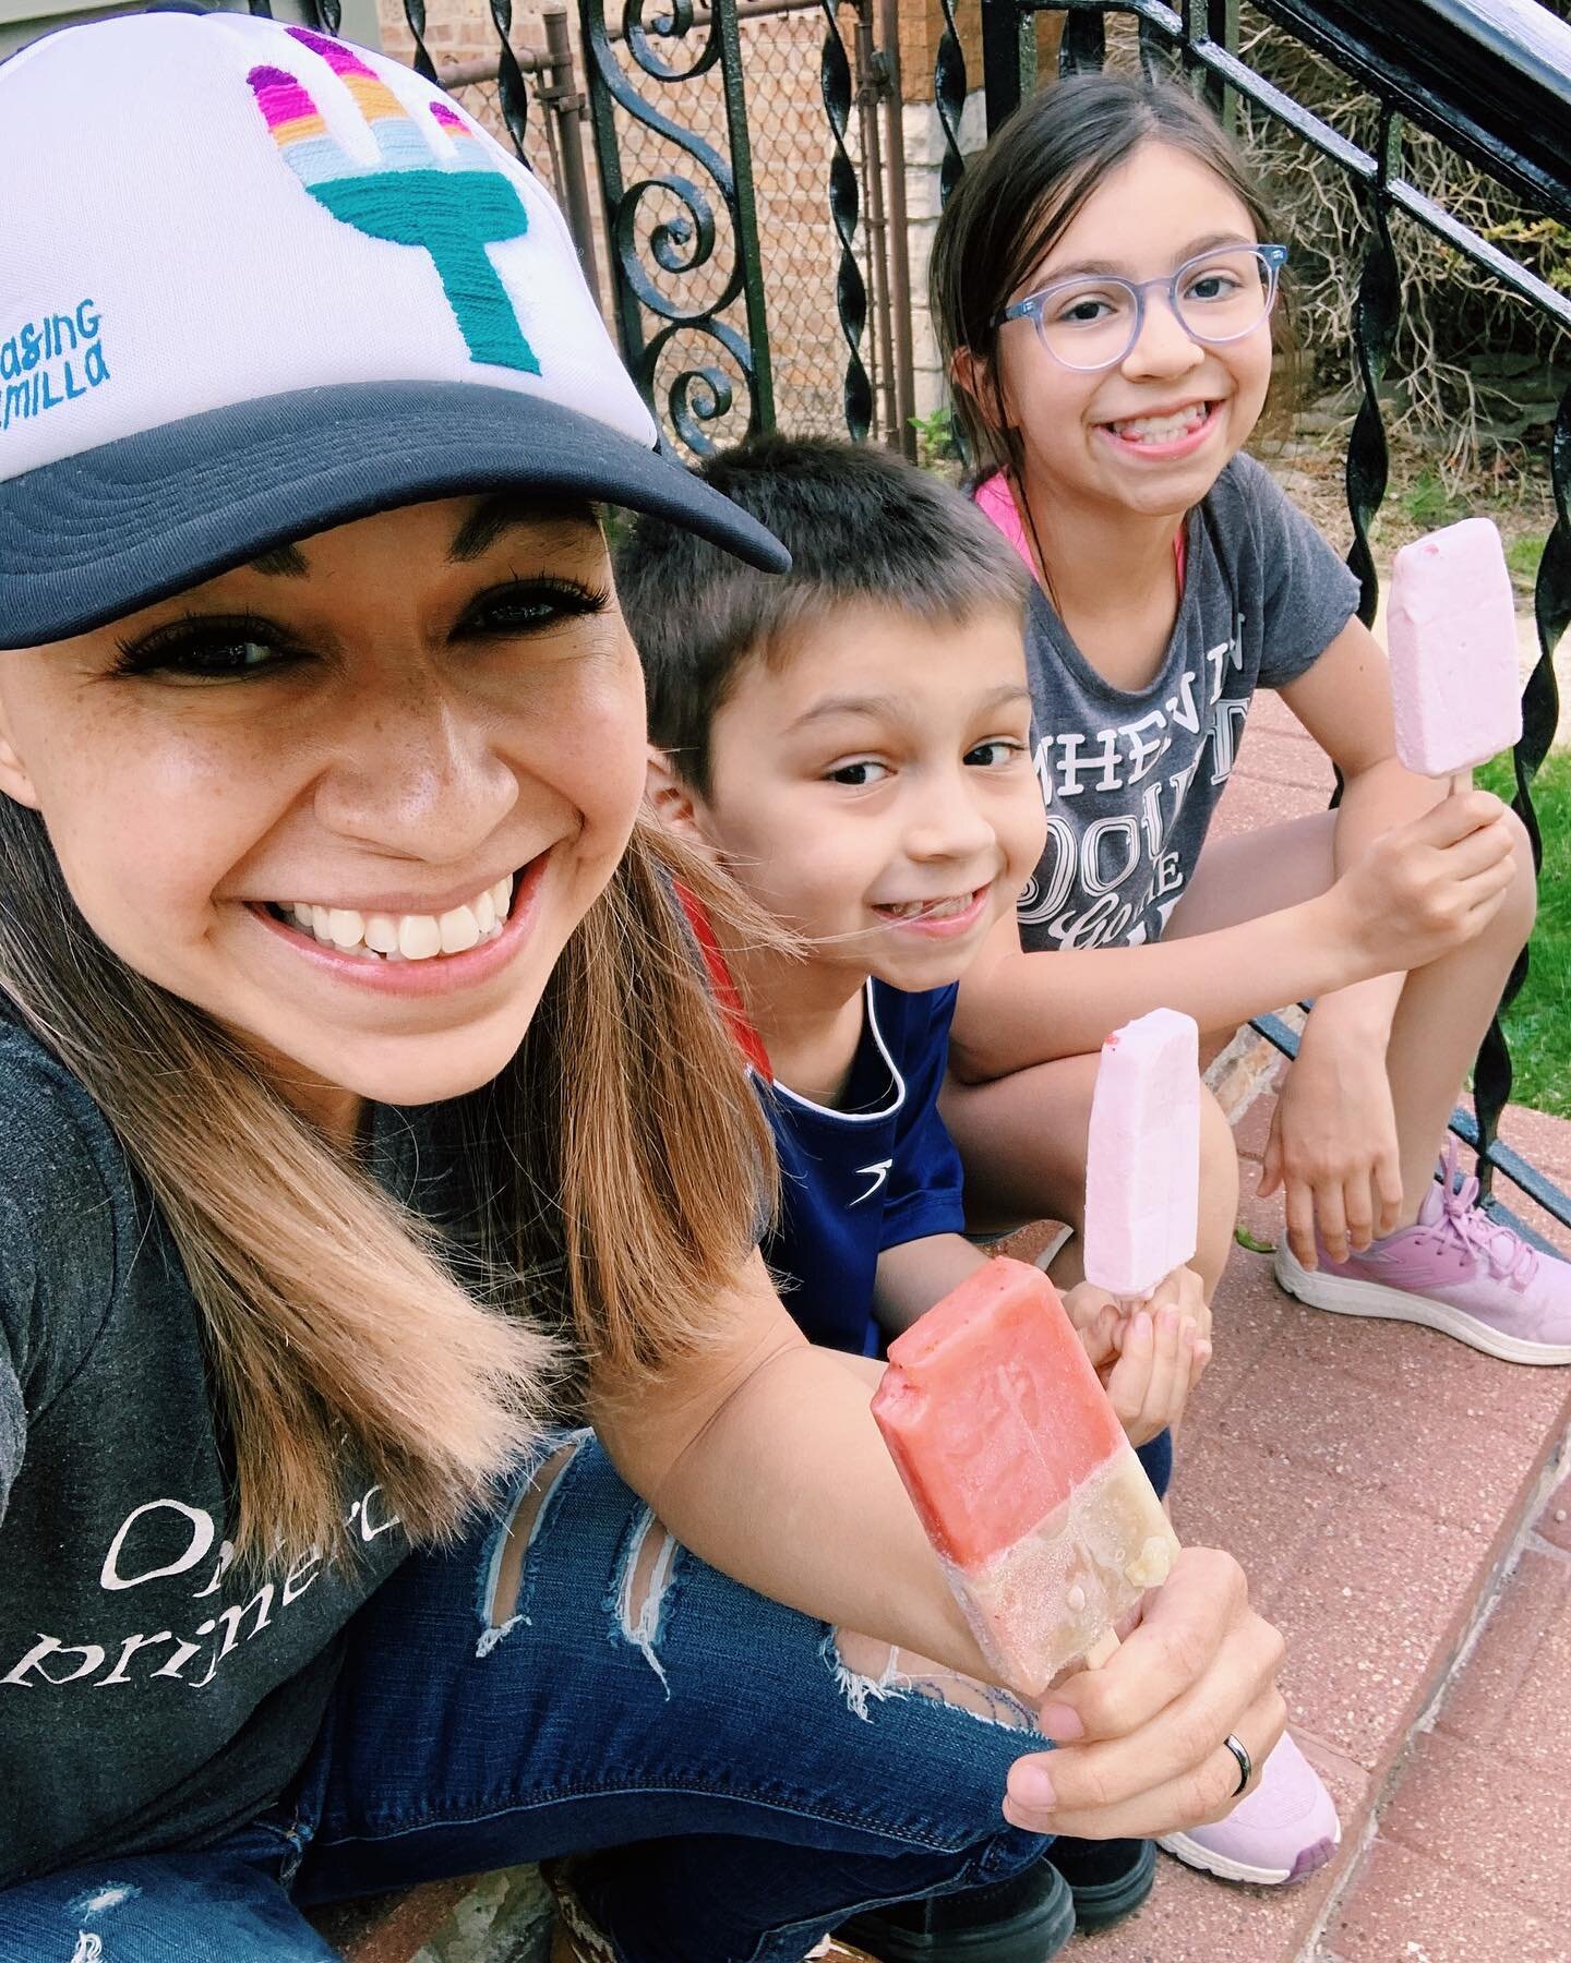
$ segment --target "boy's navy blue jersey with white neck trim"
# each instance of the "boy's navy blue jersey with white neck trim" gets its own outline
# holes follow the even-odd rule
[[[780,1221],[764,1258],[813,1343],[876,1356],[878,1256],[964,1233],[960,1154],[939,1117],[954,993],[868,982],[842,1109],[760,1086],[780,1150]]]

